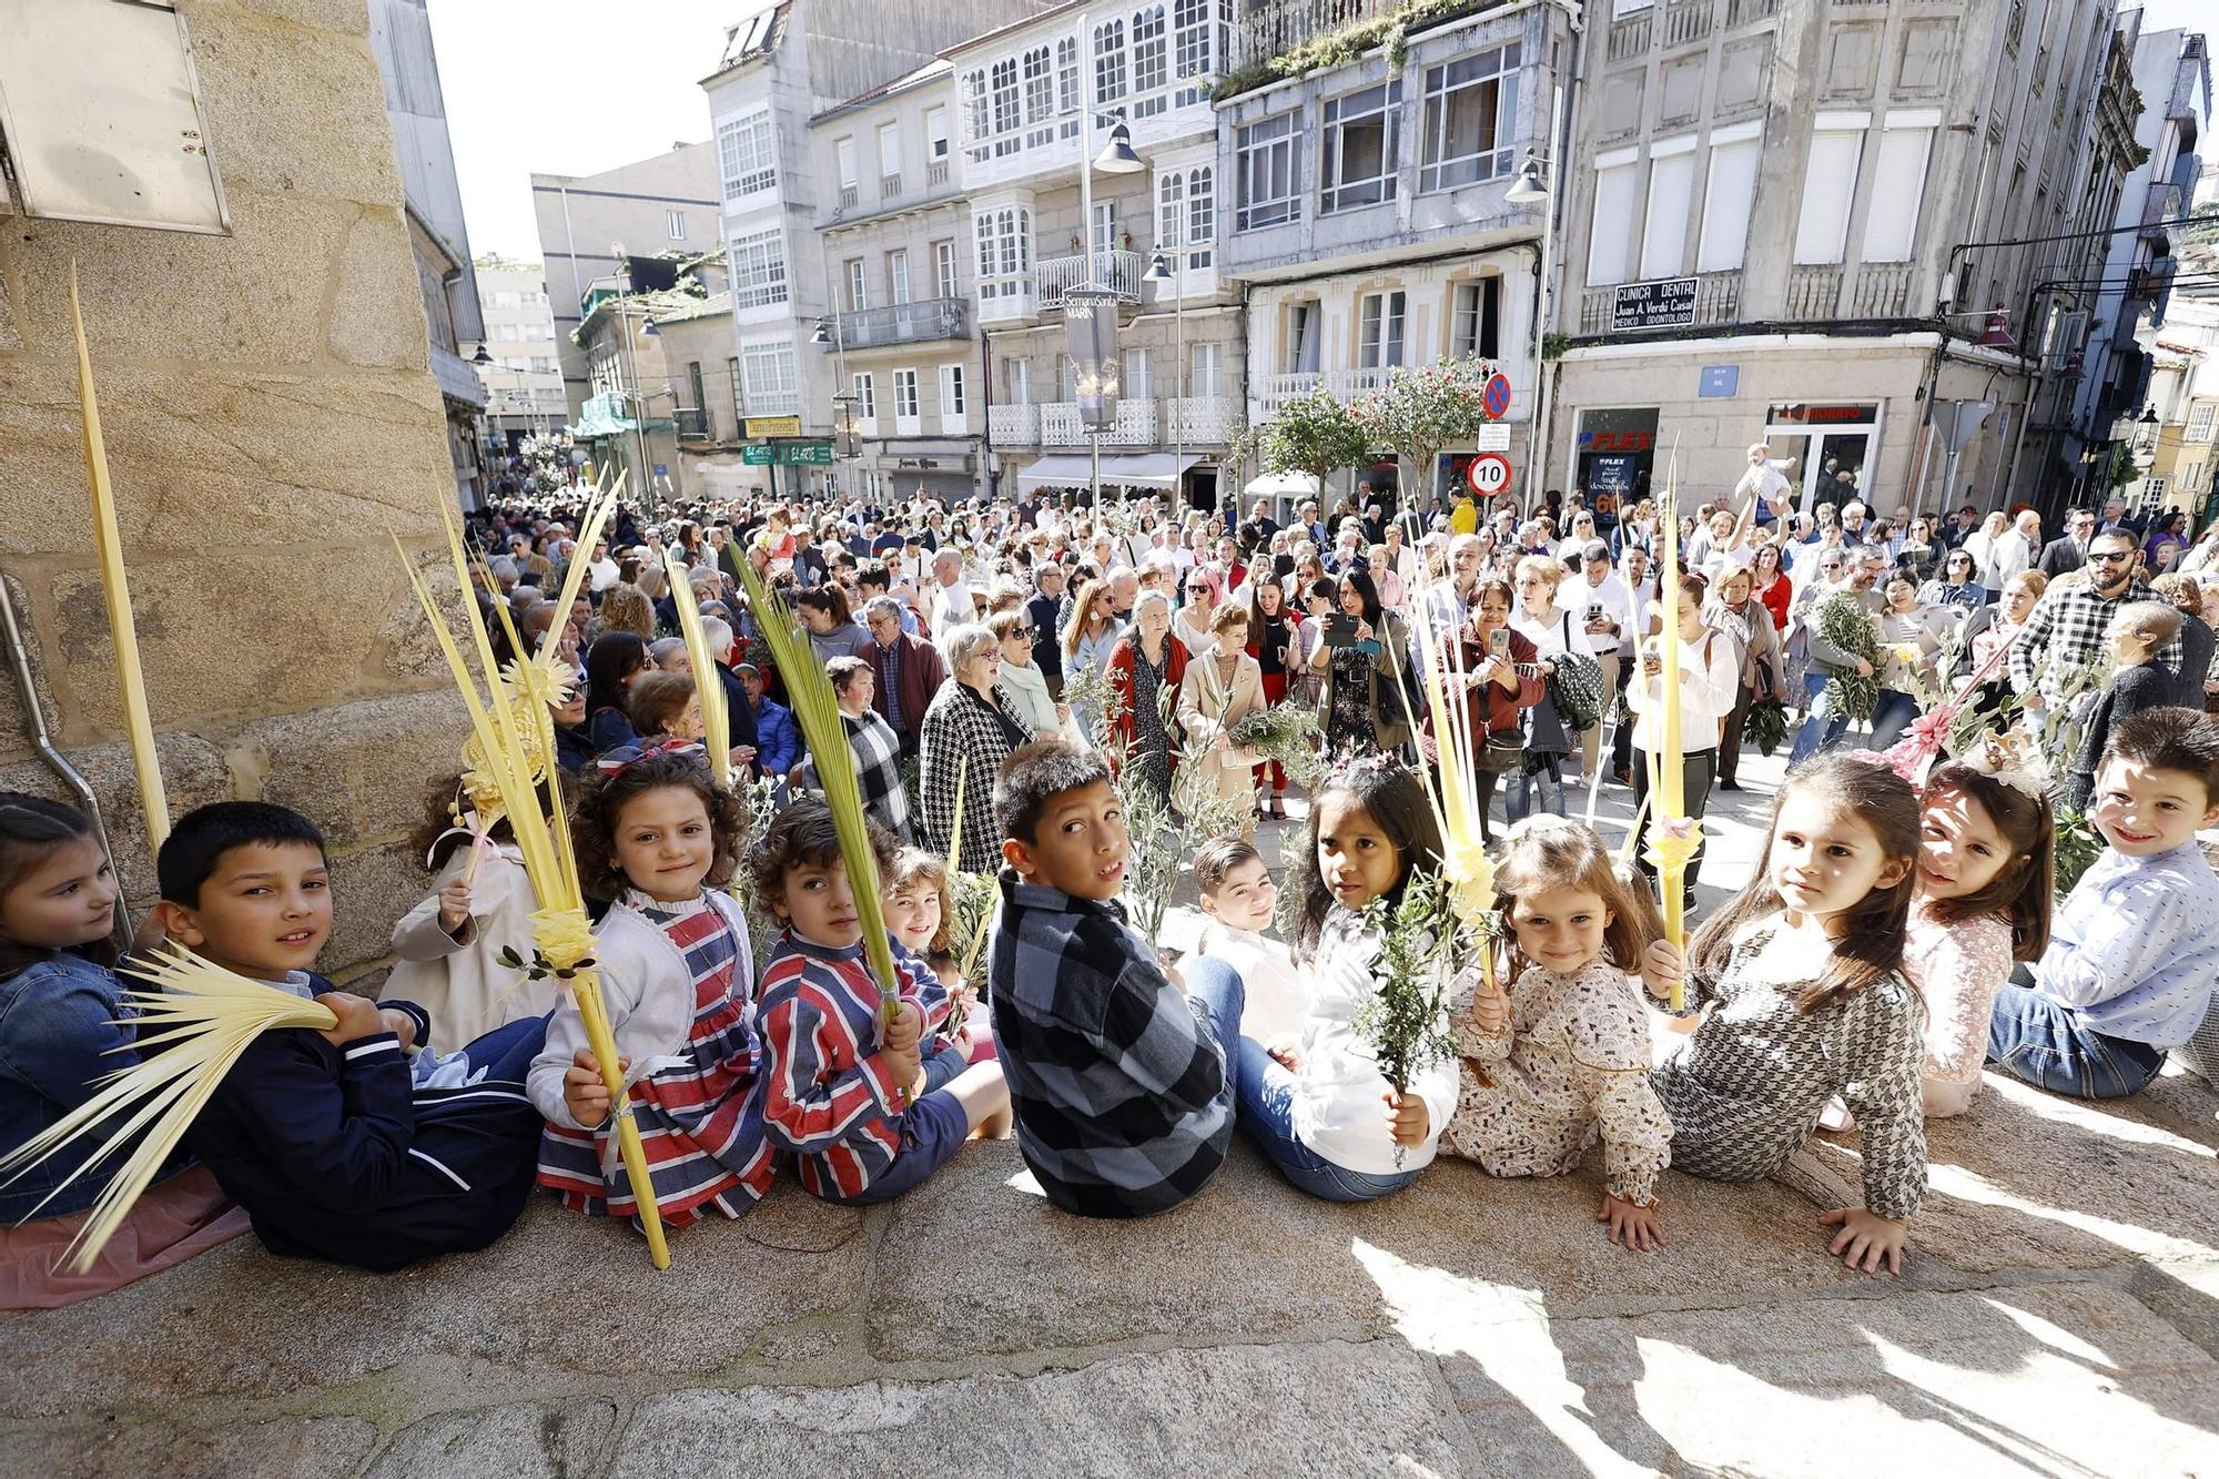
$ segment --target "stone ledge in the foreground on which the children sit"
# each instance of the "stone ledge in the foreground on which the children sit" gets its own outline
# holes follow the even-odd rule
[[[1722,799],[1737,882],[1769,795]],[[1121,1226],[1010,1144],[870,1213],[781,1184],[663,1275],[548,1204],[384,1279],[242,1239],[7,1319],[0,1472],[2219,1475],[2219,1095],[1990,1077],[1931,1139],[1902,1279],[1775,1181],[1669,1173],[1671,1246],[1629,1255],[1593,1168],[1345,1208],[1245,1146]]]

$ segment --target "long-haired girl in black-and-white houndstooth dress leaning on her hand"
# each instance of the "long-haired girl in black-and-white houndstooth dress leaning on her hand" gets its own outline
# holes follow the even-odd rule
[[[1904,966],[1917,857],[1902,775],[1853,755],[1791,771],[1764,868],[1689,942],[1680,1015],[1702,1024],[1653,1075],[1673,1166],[1720,1181],[1786,1166],[1840,1095],[1862,1130],[1864,1206],[1820,1221],[1840,1228],[1828,1252],[1866,1272],[1902,1270],[1926,1197],[1924,1010]]]

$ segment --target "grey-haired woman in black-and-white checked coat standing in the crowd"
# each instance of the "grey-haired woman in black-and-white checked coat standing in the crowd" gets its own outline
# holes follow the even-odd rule
[[[999,688],[1001,642],[981,622],[965,622],[941,637],[948,682],[932,695],[919,731],[916,791],[923,844],[948,855],[956,822],[956,786],[963,788],[963,873],[994,873],[1001,866],[1001,833],[994,831],[994,775],[1032,728]]]

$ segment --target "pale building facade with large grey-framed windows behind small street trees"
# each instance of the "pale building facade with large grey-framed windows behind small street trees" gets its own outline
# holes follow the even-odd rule
[[[1285,7],[1274,7],[1285,9]],[[1252,18],[1265,60],[1300,27]],[[1507,451],[1531,469],[1540,204],[1509,187],[1547,151],[1573,36],[1558,4],[1507,4],[1414,29],[1340,67],[1220,102],[1223,262],[1247,298],[1247,415],[1316,389],[1356,400],[1449,358],[1511,382]],[[1447,493],[1476,446],[1414,469]],[[1362,477],[1396,489],[1391,462]]]

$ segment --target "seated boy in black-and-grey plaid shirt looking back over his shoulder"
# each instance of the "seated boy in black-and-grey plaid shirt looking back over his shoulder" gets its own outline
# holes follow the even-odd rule
[[[1001,910],[987,953],[1016,1144],[1083,1217],[1189,1201],[1225,1161],[1225,1048],[1125,924],[1125,819],[1101,755],[1027,744],[994,779]]]

